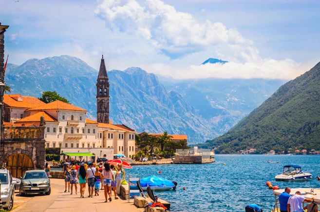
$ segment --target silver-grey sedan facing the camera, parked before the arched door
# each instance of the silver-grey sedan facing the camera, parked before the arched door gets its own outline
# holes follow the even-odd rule
[[[45,193],[50,195],[50,178],[44,170],[28,170],[20,177],[19,195],[24,196],[26,193]]]

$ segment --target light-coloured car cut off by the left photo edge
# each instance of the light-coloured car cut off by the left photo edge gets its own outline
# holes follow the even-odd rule
[[[0,169],[1,201],[4,209],[10,211],[13,207],[16,180],[7,169]]]

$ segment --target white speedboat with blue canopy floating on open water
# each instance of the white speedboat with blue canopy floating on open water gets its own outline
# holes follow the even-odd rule
[[[286,165],[283,166],[283,173],[275,177],[277,181],[305,181],[311,179],[311,173],[301,171],[301,166]]]

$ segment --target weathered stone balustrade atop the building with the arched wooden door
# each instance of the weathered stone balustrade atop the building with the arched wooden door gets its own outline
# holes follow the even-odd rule
[[[35,139],[44,139],[44,129],[45,126],[10,126],[10,127],[3,127],[1,140],[17,140],[17,139],[24,139],[24,140],[35,140]]]

